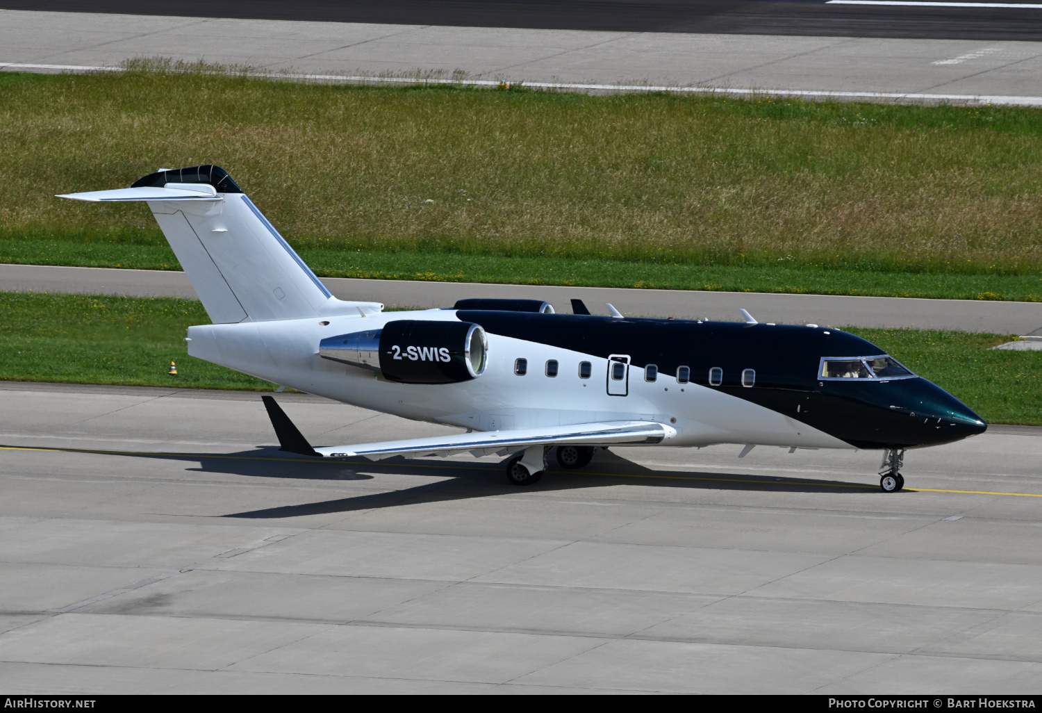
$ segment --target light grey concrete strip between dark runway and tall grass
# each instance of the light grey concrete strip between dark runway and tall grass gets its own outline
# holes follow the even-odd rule
[[[444,5],[435,0],[422,0],[415,13],[398,11],[394,9],[394,2],[323,5],[341,9],[369,7],[390,13],[393,17],[380,21],[382,24],[375,21],[312,21],[324,16],[309,14],[308,8],[318,5],[307,2],[238,3],[233,7],[220,3],[206,5],[214,11],[232,8],[254,15],[256,8],[292,8],[293,20],[0,9],[0,70],[61,72],[74,71],[74,68],[114,67],[133,57],[163,56],[308,75],[462,75],[471,80],[588,87],[621,84],[771,91],[812,99],[832,96],[865,101],[1042,105],[1042,45],[1033,41],[1038,39],[1042,27],[1042,10],[1038,9],[987,10],[1014,25],[1008,32],[989,33],[987,22],[973,20],[965,25],[969,29],[963,34],[954,30],[948,34],[917,30],[900,36],[893,32],[877,36],[868,30],[847,32],[832,26],[827,32],[834,34],[804,32],[773,17],[760,27],[769,30],[766,34],[753,33],[755,28],[730,25],[729,29],[713,29],[712,23],[700,24],[698,31],[638,31],[592,26],[532,29],[503,26],[502,23],[508,20],[504,8],[508,8],[510,3],[473,4],[478,9],[495,8],[495,21],[500,24],[495,27],[446,26],[446,18],[456,18],[452,14],[439,15],[442,21],[436,24],[437,18],[428,18],[420,11]],[[0,2],[0,8],[15,5],[17,3]],[[32,6],[40,9],[57,5],[32,3]],[[92,6],[101,7],[75,3],[78,9]],[[524,6],[529,8],[526,11],[538,17],[550,18],[553,8],[578,5]],[[611,6],[616,7],[615,4]],[[618,6],[626,5],[619,3]],[[677,3],[670,7],[689,6],[703,5]],[[920,11],[915,7],[879,9],[793,2],[717,2],[714,6],[744,8],[742,11],[778,6],[793,13],[817,8],[815,11],[882,13],[895,18],[894,14],[907,18]],[[168,13],[203,11],[201,5],[191,3],[176,6],[138,3],[133,11],[148,11],[149,7],[162,7]],[[172,9],[174,7],[177,9]],[[582,7],[597,8],[597,11],[585,11],[584,17],[611,15],[600,11],[603,9],[600,5],[584,4]],[[639,3],[634,7],[640,8],[637,16],[646,9]],[[546,8],[549,9],[544,13]],[[232,13],[232,9],[227,11]],[[935,23],[936,26],[958,27],[959,23],[952,18],[969,10],[929,11],[943,16],[943,22]],[[1028,15],[1021,17],[1024,13]],[[466,17],[476,16],[468,11]]]

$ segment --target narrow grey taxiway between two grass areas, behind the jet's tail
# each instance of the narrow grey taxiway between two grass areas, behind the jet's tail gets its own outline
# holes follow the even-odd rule
[[[616,288],[425,282],[395,279],[324,277],[341,299],[383,302],[389,309],[452,306],[457,299],[506,297],[542,299],[571,313],[581,299],[593,314],[609,314],[611,302],[638,317],[709,318],[741,321],[740,309],[761,322],[827,326],[915,327],[1042,336],[1042,303],[969,299],[849,297],[751,292],[696,292]],[[183,272],[0,264],[0,292],[59,292],[131,297],[197,299]]]

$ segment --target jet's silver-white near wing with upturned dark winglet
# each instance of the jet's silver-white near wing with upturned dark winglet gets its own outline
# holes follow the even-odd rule
[[[282,450],[326,458],[368,458],[379,461],[394,456],[450,456],[471,452],[475,456],[505,456],[534,445],[642,445],[661,443],[676,436],[676,429],[654,421],[601,421],[565,426],[511,428],[403,441],[356,443],[353,445],[313,448],[282,412],[275,399],[264,396],[265,407]]]

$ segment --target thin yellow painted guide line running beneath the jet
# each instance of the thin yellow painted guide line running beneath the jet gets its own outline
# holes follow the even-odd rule
[[[391,466],[404,467],[404,468],[429,468],[436,470],[498,470],[497,467],[482,467],[482,466],[442,466],[442,465],[428,465],[425,463],[379,463],[377,462],[364,462],[364,461],[339,461],[339,460],[326,460],[321,461],[315,460],[304,460],[302,458],[267,458],[259,457],[254,458],[252,456],[225,456],[219,453],[152,453],[148,451],[138,451],[138,450],[88,450],[82,448],[30,448],[28,446],[0,446],[0,450],[35,450],[42,452],[52,452],[52,453],[94,453],[98,456],[139,456],[141,458],[173,458],[173,459],[183,459],[190,457],[193,459],[198,458],[214,458],[229,461],[277,461],[279,463],[327,463],[329,465],[357,465],[366,467],[384,467],[389,468]],[[704,483],[747,483],[750,485],[775,485],[775,486],[804,486],[804,487],[818,487],[818,488],[850,488],[857,490],[875,490],[876,486],[872,485],[857,485],[857,484],[845,484],[845,483],[808,483],[801,481],[766,481],[766,480],[752,480],[752,478],[737,478],[737,477],[701,477],[693,475],[640,475],[631,473],[588,473],[588,472],[575,472],[575,471],[561,471],[561,470],[548,470],[548,473],[554,475],[593,475],[601,477],[632,477],[632,478],[646,478],[651,481],[694,481],[694,482],[704,482]],[[949,490],[946,488],[904,488],[904,492],[916,493],[956,493],[960,495],[1012,495],[1015,497],[1042,497],[1042,493],[1001,493],[989,490]]]

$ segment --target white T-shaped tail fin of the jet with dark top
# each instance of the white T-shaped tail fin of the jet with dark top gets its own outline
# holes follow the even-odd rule
[[[216,324],[383,308],[377,302],[334,298],[218,166],[164,169],[129,189],[60,197],[146,201]]]

